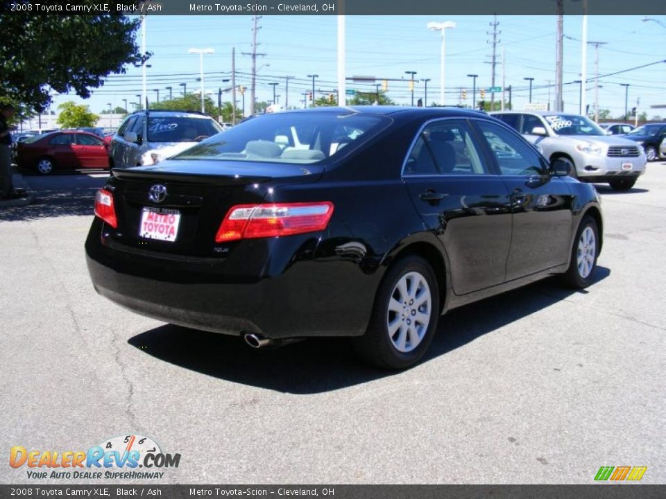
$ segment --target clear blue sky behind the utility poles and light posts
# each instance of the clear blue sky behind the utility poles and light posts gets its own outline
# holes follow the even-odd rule
[[[590,16],[588,40],[607,42],[599,49],[599,74],[613,73],[642,64],[666,59],[666,28],[654,21],[644,22],[642,16]],[[459,89],[468,89],[466,103],[471,104],[471,78],[479,74],[477,87],[490,86],[490,54],[488,35],[493,17],[454,16],[349,16],[347,17],[347,76],[365,75],[377,78],[402,78],[404,71],[418,71],[416,78],[432,78],[428,101],[438,100],[440,37],[427,30],[428,21],[455,21],[456,28],[447,30],[447,103],[459,102]],[[658,18],[666,25],[666,18]],[[533,101],[547,102],[554,98],[554,89],[542,86],[555,80],[555,16],[499,16],[499,40],[506,53],[506,85],[513,85],[513,104],[517,109],[527,102],[527,82],[534,78]],[[336,17],[264,16],[259,24],[258,65],[269,64],[259,71],[257,98],[273,97],[270,82],[280,82],[277,93],[284,103],[284,76],[296,76],[289,84],[289,104],[295,105],[302,92],[311,87],[306,76],[318,73],[316,87],[323,91],[334,89],[336,81]],[[187,83],[188,90],[198,88],[198,55],[187,53],[190,47],[212,47],[214,54],[205,55],[204,71],[207,91],[228,86],[221,73],[231,69],[231,50],[236,48],[238,85],[249,85],[249,52],[252,33],[251,17],[246,16],[155,16],[148,19],[147,48],[154,53],[148,69],[148,92],[151,100],[160,89],[160,98],[174,94]],[[581,26],[579,16],[566,16],[564,21],[564,81],[578,80],[581,71]],[[498,49],[498,55],[501,49]],[[501,65],[497,66],[497,85],[501,84]],[[588,78],[595,73],[595,51],[588,49]],[[167,75],[167,76],[159,76]],[[94,112],[107,109],[107,103],[123,106],[123,98],[137,100],[141,90],[141,71],[131,67],[122,76],[111,76],[106,84],[85,100]],[[280,78],[282,77],[282,78]],[[405,76],[407,78],[407,76]],[[611,110],[613,116],[624,112],[624,87],[629,83],[629,107],[640,97],[640,109],[649,116],[666,117],[666,110],[651,110],[649,105],[666,104],[666,64],[601,78],[599,105]],[[594,85],[588,84],[588,103],[594,103]],[[370,89],[370,84],[348,83],[348,88]],[[416,87],[416,96],[423,96],[423,85]],[[407,82],[390,82],[388,96],[397,103],[409,103]],[[240,99],[240,96],[237,98]],[[477,100],[478,100],[477,95]],[[499,96],[496,96],[499,98]],[[565,85],[565,110],[577,112],[579,86]],[[73,96],[56,96],[56,105],[65,100],[82,100]],[[216,96],[214,96],[216,100]],[[224,94],[223,100],[230,100]],[[249,91],[246,94],[246,106]]]

